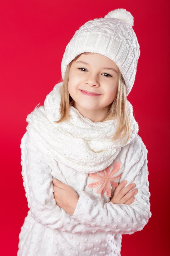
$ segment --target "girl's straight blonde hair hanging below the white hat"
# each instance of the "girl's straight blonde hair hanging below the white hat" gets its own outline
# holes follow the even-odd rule
[[[63,80],[63,85],[61,87],[61,102],[59,108],[60,119],[58,121],[54,121],[55,123],[60,123],[62,121],[67,121],[69,119],[69,107],[73,106],[74,104],[74,100],[71,98],[68,91],[69,71],[73,62],[76,61],[76,59],[78,59],[78,57],[80,57],[81,54],[76,56],[75,59],[73,59],[67,66],[65,78]],[[117,119],[118,121],[117,130],[114,136],[112,137],[112,140],[121,140],[124,139],[127,135],[125,143],[128,142],[131,134],[131,123],[129,118],[129,112],[127,109],[126,85],[120,70],[118,71],[118,87],[116,97],[110,104],[109,111],[107,112],[105,117],[98,122],[103,122],[105,120],[111,119]]]

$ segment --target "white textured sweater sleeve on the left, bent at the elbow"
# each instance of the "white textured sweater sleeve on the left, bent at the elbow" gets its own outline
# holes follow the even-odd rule
[[[31,216],[48,228],[70,232],[79,222],[56,204],[48,156],[38,150],[27,132],[20,148],[23,185]]]

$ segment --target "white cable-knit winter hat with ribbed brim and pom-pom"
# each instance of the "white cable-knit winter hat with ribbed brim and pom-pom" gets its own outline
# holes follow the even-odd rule
[[[89,20],[76,30],[67,44],[61,61],[64,80],[67,65],[80,53],[105,55],[116,63],[126,82],[126,95],[135,81],[140,47],[132,28],[133,16],[126,9],[110,11],[104,18]]]

